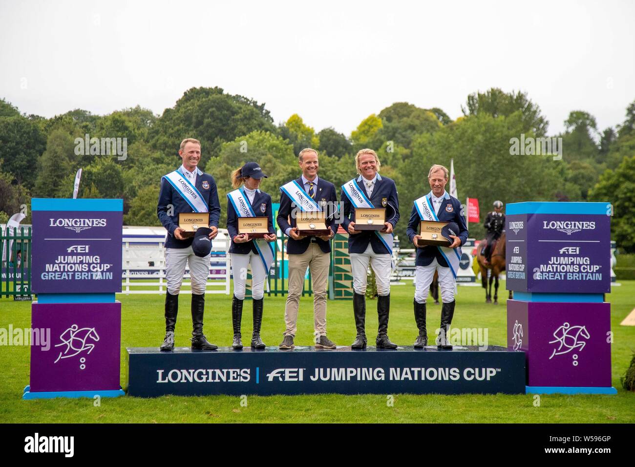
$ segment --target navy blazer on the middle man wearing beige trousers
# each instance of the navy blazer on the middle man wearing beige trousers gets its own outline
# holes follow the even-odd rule
[[[295,180],[298,182],[300,186],[303,186],[302,177]],[[276,217],[277,224],[283,233],[286,233],[286,229],[289,227],[296,227],[297,222],[295,219],[291,219],[291,210],[295,208],[295,203],[291,201],[291,199],[286,196],[282,191],[280,192],[280,208],[278,209],[278,215]],[[316,200],[317,203],[321,203],[321,201],[326,201],[327,203],[331,203],[331,206],[335,206],[337,203],[337,195],[335,194],[335,185],[331,182],[327,182],[322,177],[318,176],[318,187],[316,189],[316,194],[313,196],[313,199]],[[330,209],[332,211],[332,209]],[[330,216],[326,218],[326,226],[329,227],[333,234],[337,233],[337,224],[335,224],[335,215],[332,212],[328,212]],[[291,222],[289,222],[291,220]],[[309,243],[311,243],[311,239],[314,238],[316,243],[318,243],[320,249],[324,253],[331,252],[331,241],[324,241],[319,239],[318,237],[305,237],[302,240],[293,240],[293,238],[289,237],[289,240],[286,244],[286,252],[290,255],[294,254],[303,254],[307,248],[309,248]]]

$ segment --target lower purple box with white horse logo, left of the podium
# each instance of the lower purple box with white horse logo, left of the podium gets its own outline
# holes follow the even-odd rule
[[[35,302],[31,316],[50,342],[31,347],[30,392],[119,389],[121,303]]]

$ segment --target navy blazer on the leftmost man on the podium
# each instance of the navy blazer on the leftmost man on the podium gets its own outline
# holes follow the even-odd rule
[[[196,189],[201,193],[203,199],[206,201],[209,216],[210,227],[218,227],[218,219],[220,218],[220,203],[218,202],[218,192],[216,189],[216,182],[214,177],[209,173],[204,173],[201,169],[197,168],[196,175]],[[168,215],[168,206],[173,206],[172,215]],[[161,224],[168,231],[168,235],[165,239],[166,248],[187,248],[192,245],[194,238],[186,238],[185,240],[178,240],[174,236],[174,231],[178,227],[178,213],[180,212],[194,212],[192,207],[184,200],[177,190],[171,186],[165,179],[161,179],[161,193],[159,193],[159,205],[157,205],[157,216],[161,220]]]

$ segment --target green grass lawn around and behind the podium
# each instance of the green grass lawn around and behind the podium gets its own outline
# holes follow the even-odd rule
[[[411,345],[417,330],[412,311],[414,288],[411,282],[392,288],[389,336],[402,345]],[[489,344],[505,346],[504,283],[500,288],[501,304],[485,304],[480,287],[459,287],[453,326],[488,328]],[[99,407],[93,400],[52,399],[23,401],[22,391],[29,383],[29,348],[0,346],[3,377],[0,379],[0,421],[12,423],[633,423],[635,393],[622,389],[624,376],[635,350],[635,327],[620,322],[635,307],[635,281],[622,281],[607,295],[612,312],[612,346],[614,396],[543,395],[534,405],[533,395],[394,395],[394,405],[387,406],[385,395],[306,395],[249,396],[241,407],[236,396],[164,396],[154,399],[120,397],[102,398]],[[164,320],[162,295],[117,295],[122,302],[121,381],[124,381],[126,347],[159,346],[163,341]],[[177,322],[177,346],[189,345],[191,321],[189,295],[182,295]],[[251,306],[245,304],[243,341],[251,335]],[[377,318],[374,302],[367,304],[366,332],[374,341]],[[439,305],[428,307],[429,329],[438,327]],[[266,297],[262,338],[269,346],[279,344],[284,330],[284,297]],[[338,345],[350,345],[355,337],[351,301],[328,302],[328,336]],[[0,299],[0,328],[27,328],[30,325],[30,302]],[[312,299],[300,302],[296,344],[312,344]],[[210,342],[228,346],[232,340],[231,295],[208,295],[205,333]]]

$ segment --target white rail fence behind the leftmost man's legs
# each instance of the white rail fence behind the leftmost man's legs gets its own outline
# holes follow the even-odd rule
[[[158,227],[157,227],[158,229]],[[161,230],[165,232],[163,227]],[[210,274],[207,277],[206,294],[229,295],[230,259],[225,229],[220,229],[217,238],[212,242]],[[165,234],[148,232],[147,229],[137,233],[124,227],[122,242],[122,294],[164,294],[165,280]],[[187,287],[191,285],[190,271],[186,267],[181,294],[191,294]]]

